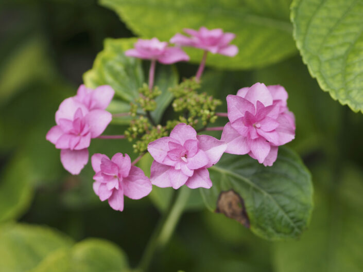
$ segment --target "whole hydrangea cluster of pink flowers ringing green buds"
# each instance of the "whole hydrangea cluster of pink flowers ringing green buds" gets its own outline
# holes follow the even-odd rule
[[[108,200],[114,210],[123,211],[124,195],[140,199],[151,192],[152,185],[174,189],[183,185],[192,189],[211,188],[208,168],[217,164],[223,153],[249,154],[260,164],[272,166],[278,147],[295,137],[295,119],[287,107],[287,92],[279,85],[256,83],[241,88],[236,95],[227,96],[228,113],[215,113],[221,102],[196,90],[200,87],[208,52],[229,57],[237,54],[238,48],[230,44],[235,35],[205,27],[184,31],[190,37],[177,33],[170,39],[176,47],[157,38],[139,39],[133,49],[125,52],[129,57],[150,60],[151,64],[149,82],[139,90],[140,98],[131,103],[130,113],[120,113],[134,118],[123,135],[101,135],[112,119],[106,108],[115,92],[108,85],[96,89],[81,85],[76,96],[60,104],[55,118],[57,125],[46,135],[61,150],[61,162],[72,174],[79,174],[87,164],[91,139],[139,140],[133,146],[140,156],[133,162],[128,154],[122,153],[114,154],[111,159],[101,153],[92,156],[93,190],[101,201]],[[153,87],[155,65],[188,61],[181,46],[202,49],[204,55],[195,78],[170,89],[175,96],[172,106],[182,116],[163,126],[150,114],[157,108],[154,98],[161,94],[157,86]],[[224,127],[208,128],[218,116],[228,117],[229,122]],[[196,130],[198,123],[202,128]],[[212,130],[222,130],[220,140],[198,134]],[[150,178],[135,166],[146,152],[153,158]]]

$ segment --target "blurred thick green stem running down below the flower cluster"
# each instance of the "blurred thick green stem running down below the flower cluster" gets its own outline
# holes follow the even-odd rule
[[[137,267],[138,269],[136,270],[146,272],[153,256],[165,247],[171,238],[171,235],[174,232],[181,215],[183,214],[189,194],[190,190],[188,190],[188,188],[180,188],[175,202],[172,204],[169,211],[162,217],[157,227],[155,227],[155,230],[145,248],[144,255],[141,258],[139,267]]]

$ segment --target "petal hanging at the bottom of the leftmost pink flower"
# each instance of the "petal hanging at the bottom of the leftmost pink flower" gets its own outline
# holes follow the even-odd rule
[[[78,175],[88,162],[88,149],[61,150],[61,162],[65,170],[73,175]]]

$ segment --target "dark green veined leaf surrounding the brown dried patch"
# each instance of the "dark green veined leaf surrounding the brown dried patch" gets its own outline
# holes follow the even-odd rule
[[[292,151],[279,148],[272,167],[258,164],[248,155],[224,154],[209,172],[213,186],[200,190],[212,211],[219,194],[233,189],[244,200],[251,230],[258,236],[296,238],[307,227],[313,209],[312,180]]]

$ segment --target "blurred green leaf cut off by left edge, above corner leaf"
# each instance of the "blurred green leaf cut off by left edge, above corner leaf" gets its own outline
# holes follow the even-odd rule
[[[30,205],[32,176],[30,160],[21,153],[6,165],[0,181],[0,222],[19,217]]]

